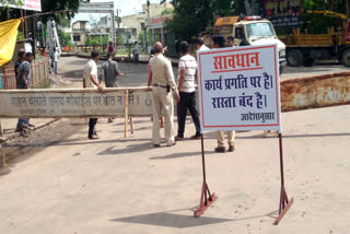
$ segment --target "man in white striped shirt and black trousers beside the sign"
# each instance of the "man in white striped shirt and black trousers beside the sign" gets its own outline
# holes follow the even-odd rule
[[[177,89],[179,91],[179,103],[177,104],[177,137],[176,141],[184,140],[185,124],[187,109],[192,117],[196,126],[196,134],[190,139],[200,139],[201,130],[199,122],[199,114],[196,104],[196,85],[195,77],[197,77],[197,61],[195,57],[188,54],[188,43],[182,42],[179,44],[180,59],[178,61],[178,83]]]

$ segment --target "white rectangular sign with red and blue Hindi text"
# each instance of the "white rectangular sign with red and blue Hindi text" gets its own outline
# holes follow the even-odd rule
[[[281,131],[277,45],[201,50],[197,59],[205,131]]]

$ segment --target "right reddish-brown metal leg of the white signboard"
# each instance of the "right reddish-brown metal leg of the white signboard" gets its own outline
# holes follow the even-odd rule
[[[278,225],[278,223],[282,220],[282,218],[284,217],[289,208],[294,202],[294,198],[292,198],[291,200],[288,199],[285,186],[284,186],[282,133],[279,133],[278,138],[279,138],[279,144],[280,144],[281,197],[280,197],[280,206],[279,206],[279,215],[273,222],[275,225]]]

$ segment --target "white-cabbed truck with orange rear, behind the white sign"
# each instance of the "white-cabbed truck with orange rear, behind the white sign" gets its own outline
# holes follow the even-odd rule
[[[260,16],[219,17],[214,24],[214,35],[233,36],[235,46],[257,46],[277,44],[279,50],[280,73],[287,65],[285,45],[278,39],[270,21]]]

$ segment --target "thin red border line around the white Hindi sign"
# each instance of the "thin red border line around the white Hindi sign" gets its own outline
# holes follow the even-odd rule
[[[206,126],[206,121],[205,121],[205,107],[203,107],[203,92],[202,92],[202,85],[200,85],[200,100],[201,100],[201,119],[202,119],[202,127],[205,128],[220,128],[220,127],[234,127],[234,128],[243,128],[243,127],[269,127],[269,126],[280,126],[280,112],[279,112],[279,102],[278,102],[278,90],[277,87],[278,85],[278,77],[277,77],[277,55],[276,55],[276,46],[259,46],[259,47],[254,47],[254,48],[242,48],[242,49],[225,49],[225,50],[221,50],[221,51],[210,51],[208,50],[208,52],[200,52],[199,54],[199,78],[200,78],[200,84],[202,84],[202,78],[201,78],[201,56],[202,55],[210,55],[210,54],[222,54],[222,52],[229,52],[229,51],[241,51],[241,50],[253,50],[253,49],[262,49],[262,48],[273,48],[273,56],[275,56],[275,82],[276,82],[276,106],[277,106],[277,124],[273,125],[229,125],[229,126]],[[242,70],[248,70],[248,69],[242,69]],[[250,69],[252,70],[252,69]],[[236,71],[236,70],[233,70]],[[223,72],[229,72],[229,71],[223,71]],[[212,72],[215,73],[215,72]]]

